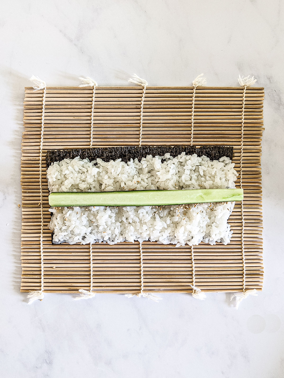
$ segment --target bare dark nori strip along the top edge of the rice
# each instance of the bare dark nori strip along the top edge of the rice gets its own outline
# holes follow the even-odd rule
[[[74,159],[80,156],[81,159],[89,159],[90,161],[100,158],[103,161],[111,161],[121,158],[125,163],[137,158],[145,158],[147,155],[164,156],[165,153],[170,153],[171,156],[178,156],[185,152],[186,155],[207,156],[210,160],[219,160],[223,156],[233,159],[234,149],[228,146],[126,146],[126,147],[96,147],[86,149],[71,149],[71,150],[48,150],[45,156],[46,167],[51,163],[61,161],[64,159]]]

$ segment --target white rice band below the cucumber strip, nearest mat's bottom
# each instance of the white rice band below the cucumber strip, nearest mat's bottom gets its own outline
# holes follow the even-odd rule
[[[234,202],[179,206],[61,207],[53,212],[53,242],[109,243],[150,240],[163,244],[229,243]]]

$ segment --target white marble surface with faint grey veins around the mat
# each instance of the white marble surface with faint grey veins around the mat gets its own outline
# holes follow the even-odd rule
[[[0,15],[1,263],[3,378],[280,378],[283,327],[283,3],[280,0],[15,1]],[[237,85],[254,74],[265,87],[263,139],[265,285],[238,311],[229,295],[152,301],[20,293],[20,142],[24,87],[48,85]],[[273,164],[271,164],[271,160]]]

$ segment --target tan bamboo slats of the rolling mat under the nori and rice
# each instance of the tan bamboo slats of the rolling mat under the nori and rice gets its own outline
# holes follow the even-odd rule
[[[139,143],[141,87],[97,87],[94,102],[93,147]],[[51,149],[89,148],[92,87],[47,87],[42,144],[44,291],[77,293],[90,287],[89,245],[53,245],[48,228],[48,188],[45,153]],[[147,87],[142,144],[190,144],[193,87]],[[22,284],[21,291],[41,288],[41,207],[39,152],[43,90],[25,88],[22,139]],[[262,289],[261,139],[264,88],[247,88],[244,107],[242,187],[246,289]],[[233,146],[240,172],[243,87],[197,87],[193,144]],[[239,178],[236,183],[240,185]],[[203,291],[243,289],[241,205],[229,218],[233,236],[228,245],[194,246],[195,285]],[[191,293],[189,246],[143,242],[145,292]],[[93,291],[140,292],[139,243],[96,243]]]

